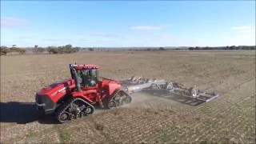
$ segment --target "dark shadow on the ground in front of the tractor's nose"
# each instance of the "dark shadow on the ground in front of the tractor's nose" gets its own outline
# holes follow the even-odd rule
[[[34,102],[0,102],[0,122],[14,122],[26,124],[38,121],[42,124],[58,123],[53,116],[41,116],[36,110]]]

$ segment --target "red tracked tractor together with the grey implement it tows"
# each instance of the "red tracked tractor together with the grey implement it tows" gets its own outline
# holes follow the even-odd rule
[[[140,90],[166,90],[199,101],[209,102],[218,94],[189,89],[165,80],[132,77],[118,82],[98,77],[98,66],[70,64],[71,78],[38,90],[36,106],[42,114],[54,114],[58,122],[93,114],[94,106],[106,109],[128,104],[130,94]]]

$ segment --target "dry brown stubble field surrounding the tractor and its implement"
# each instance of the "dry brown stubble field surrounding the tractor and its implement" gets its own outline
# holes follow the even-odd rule
[[[216,91],[198,106],[132,95],[129,106],[97,110],[89,117],[55,124],[40,118],[36,90],[69,78],[71,62],[94,63],[100,75],[164,78]],[[255,51],[126,51],[1,57],[1,143],[255,143]]]

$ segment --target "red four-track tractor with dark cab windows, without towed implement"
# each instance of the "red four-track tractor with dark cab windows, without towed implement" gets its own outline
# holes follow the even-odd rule
[[[131,102],[120,82],[98,78],[98,66],[70,64],[70,74],[70,79],[38,90],[35,100],[42,114],[66,122],[93,114],[94,106],[111,109]]]

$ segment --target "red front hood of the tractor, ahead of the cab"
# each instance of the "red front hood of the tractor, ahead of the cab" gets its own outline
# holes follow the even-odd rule
[[[74,87],[74,79],[67,79],[64,81],[54,82],[50,86],[46,86],[38,90],[37,95],[49,97],[53,102],[57,102],[59,98],[70,91]]]

